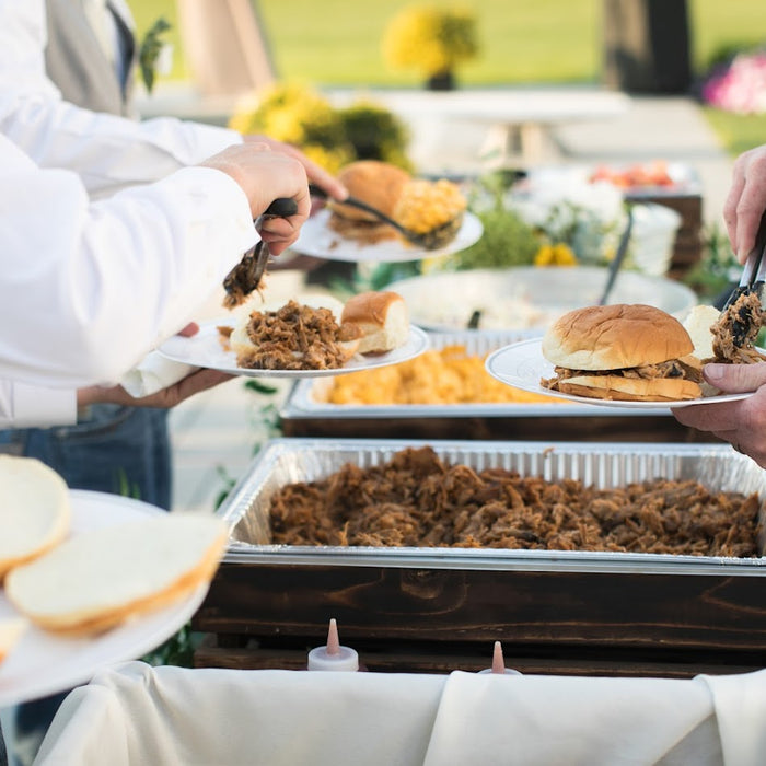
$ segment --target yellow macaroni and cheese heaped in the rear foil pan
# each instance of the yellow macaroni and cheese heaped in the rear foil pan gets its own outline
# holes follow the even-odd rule
[[[484,357],[464,346],[430,349],[399,364],[334,378],[329,404],[492,404],[554,403],[557,399],[513,388],[492,378]]]

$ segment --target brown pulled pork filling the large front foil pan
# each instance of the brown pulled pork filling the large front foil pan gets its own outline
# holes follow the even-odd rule
[[[534,548],[758,556],[756,494],[657,479],[596,489],[442,461],[428,446],[294,483],[270,506],[280,545]]]

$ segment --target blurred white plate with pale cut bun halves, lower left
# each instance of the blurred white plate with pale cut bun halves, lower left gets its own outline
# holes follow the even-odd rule
[[[3,460],[25,462],[33,459],[5,456]],[[34,461],[34,464],[37,464],[37,461]],[[40,473],[39,466],[43,464],[33,465],[34,473]],[[4,647],[0,647],[3,649],[0,652],[3,655],[0,658],[0,707],[88,683],[101,668],[115,662],[140,659],[171,638],[202,603],[214,566],[223,555],[228,539],[225,524],[216,524],[220,527],[221,537],[214,541],[214,555],[211,555],[208,561],[208,552],[212,550],[209,543],[212,538],[208,535],[209,531],[206,531],[204,534],[208,537],[199,547],[201,550],[201,546],[205,546],[205,570],[197,568],[198,559],[195,559],[194,574],[192,565],[183,573],[184,577],[188,577],[189,588],[176,590],[171,594],[170,588],[163,590],[164,583],[173,581],[173,587],[177,589],[177,572],[171,573],[165,567],[175,567],[169,564],[170,559],[178,562],[186,556],[184,552],[188,538],[181,530],[184,522],[173,519],[174,514],[130,498],[89,490],[69,490],[62,480],[51,480],[50,474],[54,472],[48,472],[47,477],[42,477],[45,480],[37,476],[34,489],[30,488],[26,492],[31,502],[22,507],[22,515],[34,519],[30,524],[36,523],[36,526],[35,531],[25,537],[28,539],[32,534],[37,534],[43,529],[43,523],[49,524],[49,529],[56,524],[58,529],[51,533],[50,539],[38,548],[37,553],[42,553],[33,560],[10,568],[4,587],[0,589],[0,634],[7,639]],[[56,477],[60,479],[58,475]],[[3,487],[7,488],[8,484],[4,481]],[[31,497],[43,497],[43,502]],[[199,521],[206,523],[209,520]],[[150,534],[150,526],[144,526],[147,523],[151,525],[151,531],[156,531],[153,526],[155,523],[165,527],[163,533],[152,535],[158,545],[161,545],[164,538],[165,555],[154,555],[153,561],[155,565],[159,562],[156,569],[162,571],[152,570],[149,560],[151,552],[155,553],[158,545],[148,544],[142,550],[129,549],[130,541],[136,542],[136,534],[140,536],[141,530]],[[135,524],[141,525],[140,529]],[[167,529],[167,524],[173,529]],[[24,524],[20,522],[16,526],[21,527]],[[129,532],[130,529],[136,534]],[[119,543],[108,550],[102,548],[102,553],[98,554],[95,546],[109,535],[124,535],[121,555],[116,549],[120,546]],[[16,538],[18,535],[11,537]],[[146,536],[141,539],[146,539]],[[14,539],[13,543],[19,543],[19,539]],[[74,561],[85,559],[77,559],[78,550],[74,548],[78,545],[81,548],[83,545],[88,547],[89,543],[94,544],[91,548],[92,555],[86,557],[86,562],[81,568]],[[5,555],[9,546],[1,547],[2,554]],[[169,556],[169,553],[172,555]],[[91,577],[90,584],[85,583],[80,589],[70,588],[79,577],[88,577],[85,570],[89,567],[98,567],[98,558],[107,557],[112,559],[107,562],[107,568],[125,565],[126,557],[132,557],[134,566],[121,566],[116,576],[103,578],[101,588],[97,577]],[[135,566],[138,558],[142,559],[140,570]],[[59,564],[65,566],[57,571],[56,566]],[[208,564],[210,566],[207,566]],[[141,583],[138,588],[143,589],[138,599],[147,596],[141,604],[137,600],[131,601],[137,594],[136,578],[132,577],[131,570],[139,573]],[[48,588],[46,582],[55,584]],[[153,596],[150,597],[143,591],[147,587],[155,585],[156,599],[152,600]],[[47,593],[50,595],[47,596]],[[9,637],[13,640],[8,640]],[[0,637],[0,645],[2,643]]]

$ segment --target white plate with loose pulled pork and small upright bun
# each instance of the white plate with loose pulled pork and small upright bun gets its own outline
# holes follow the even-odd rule
[[[173,361],[246,378],[325,378],[413,359],[429,347],[390,291],[341,303],[302,295],[201,323],[199,333],[169,338],[159,351]]]

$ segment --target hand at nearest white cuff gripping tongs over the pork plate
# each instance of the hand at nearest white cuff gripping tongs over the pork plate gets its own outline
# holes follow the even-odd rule
[[[288,197],[298,204],[298,212],[288,218],[264,219],[260,236],[272,255],[289,247],[300,233],[311,212],[309,181],[303,165],[294,156],[271,151],[267,143],[248,141],[229,147],[199,163],[231,176],[247,195],[253,220],[279,197]]]

